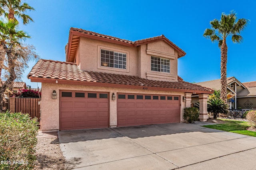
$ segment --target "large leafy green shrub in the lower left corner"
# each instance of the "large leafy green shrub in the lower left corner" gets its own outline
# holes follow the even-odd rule
[[[28,114],[0,113],[0,169],[30,170],[36,160],[37,118]]]

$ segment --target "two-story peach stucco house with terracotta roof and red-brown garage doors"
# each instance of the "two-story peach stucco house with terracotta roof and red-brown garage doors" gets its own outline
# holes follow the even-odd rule
[[[164,35],[128,41],[71,28],[65,49],[66,62],[40,59],[28,74],[42,82],[42,131],[178,123],[192,94],[208,119],[212,89],[178,76],[186,53]]]

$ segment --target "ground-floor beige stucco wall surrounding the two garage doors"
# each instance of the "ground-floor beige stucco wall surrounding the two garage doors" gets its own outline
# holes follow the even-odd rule
[[[52,99],[52,91],[56,90],[57,99]],[[41,129],[42,131],[59,130],[59,94],[60,90],[80,90],[80,91],[93,91],[93,92],[117,92],[123,93],[136,93],[136,94],[163,94],[163,95],[179,95],[180,96],[180,120],[183,119],[183,109],[185,102],[182,102],[184,92],[170,92],[161,90],[143,90],[143,89],[128,89],[128,88],[110,88],[110,87],[96,87],[96,86],[78,86],[72,84],[50,84],[42,83],[42,113],[41,113]],[[117,125],[117,109],[116,100],[110,98],[110,127]]]

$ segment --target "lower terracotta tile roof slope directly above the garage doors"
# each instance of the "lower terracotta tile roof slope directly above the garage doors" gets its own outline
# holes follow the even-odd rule
[[[148,80],[137,76],[84,71],[80,70],[75,63],[43,59],[40,59],[28,74],[28,78],[33,77],[212,92],[212,89],[210,88],[184,82],[182,80],[179,80],[178,82],[165,82]]]

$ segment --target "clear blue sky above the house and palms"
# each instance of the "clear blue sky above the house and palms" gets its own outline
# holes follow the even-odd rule
[[[65,61],[64,47],[70,27],[82,28],[131,41],[164,34],[187,54],[178,59],[178,75],[188,82],[220,78],[220,49],[203,37],[210,21],[234,10],[250,20],[241,44],[228,44],[227,76],[241,82],[256,81],[256,1],[254,0],[26,0],[34,23],[20,25],[32,36],[42,59]],[[35,62],[24,72],[23,81]],[[41,86],[38,83],[38,86]]]

